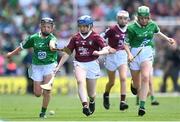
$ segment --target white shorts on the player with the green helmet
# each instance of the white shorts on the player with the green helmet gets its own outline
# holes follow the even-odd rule
[[[151,46],[132,48],[131,49],[132,55],[133,56],[137,55],[137,53],[141,49],[142,51],[139,53],[139,55],[136,56],[136,58],[129,64],[129,67],[132,70],[140,70],[140,65],[144,61],[150,61],[151,64],[153,62],[154,50]]]

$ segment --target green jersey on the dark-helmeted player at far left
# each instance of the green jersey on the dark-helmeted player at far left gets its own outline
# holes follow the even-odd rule
[[[35,33],[26,38],[21,44],[21,48],[33,48],[32,64],[46,65],[57,61],[57,52],[51,51],[49,48],[50,41],[56,41],[53,34],[49,34],[46,38],[42,38],[40,33]]]

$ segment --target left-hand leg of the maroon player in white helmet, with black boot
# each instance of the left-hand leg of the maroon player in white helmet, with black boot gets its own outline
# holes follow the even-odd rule
[[[109,93],[115,82],[115,71],[107,70],[108,82],[106,83],[105,92],[103,94],[103,105],[105,109],[109,109]]]

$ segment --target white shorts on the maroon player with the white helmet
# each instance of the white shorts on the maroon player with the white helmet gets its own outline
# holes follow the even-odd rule
[[[115,71],[122,64],[127,64],[127,53],[125,50],[119,50],[105,57],[105,67],[110,71]]]

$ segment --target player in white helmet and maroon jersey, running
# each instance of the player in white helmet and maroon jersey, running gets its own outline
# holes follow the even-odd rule
[[[108,82],[103,94],[103,105],[105,109],[110,108],[109,93],[115,82],[116,70],[119,72],[120,77],[120,110],[128,109],[126,103],[126,77],[127,77],[127,62],[128,58],[132,59],[133,56],[130,53],[128,46],[124,46],[124,38],[127,29],[127,23],[129,21],[129,13],[124,10],[120,10],[117,15],[117,24],[111,26],[106,30],[102,36],[108,39],[108,45],[116,50],[115,53],[109,54],[105,58],[105,67],[108,74]],[[127,55],[128,54],[128,55]]]

